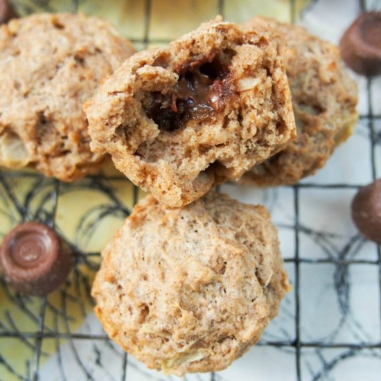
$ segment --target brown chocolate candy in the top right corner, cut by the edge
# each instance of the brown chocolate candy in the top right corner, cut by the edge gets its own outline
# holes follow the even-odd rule
[[[344,62],[364,76],[381,74],[381,12],[364,12],[340,41]]]

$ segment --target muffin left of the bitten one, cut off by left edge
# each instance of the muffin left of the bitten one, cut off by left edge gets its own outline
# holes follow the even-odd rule
[[[82,103],[134,49],[85,15],[40,14],[0,27],[0,165],[72,181],[105,155],[89,147]]]

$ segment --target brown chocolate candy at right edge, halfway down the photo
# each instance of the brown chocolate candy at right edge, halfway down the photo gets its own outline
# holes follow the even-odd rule
[[[381,245],[381,179],[357,192],[352,201],[352,219],[364,237]]]

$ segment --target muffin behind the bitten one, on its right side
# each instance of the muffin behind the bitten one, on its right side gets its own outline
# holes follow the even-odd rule
[[[243,184],[294,184],[323,167],[351,135],[357,122],[357,87],[348,76],[339,49],[305,28],[256,17],[246,27],[273,28],[288,45],[286,70],[296,122],[296,139],[254,166]]]

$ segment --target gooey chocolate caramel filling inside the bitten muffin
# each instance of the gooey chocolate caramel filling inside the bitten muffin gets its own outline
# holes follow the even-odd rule
[[[179,80],[167,94],[152,93],[148,117],[160,130],[175,131],[188,121],[206,121],[221,111],[236,96],[229,75],[229,64],[235,52],[224,51],[177,68]]]

